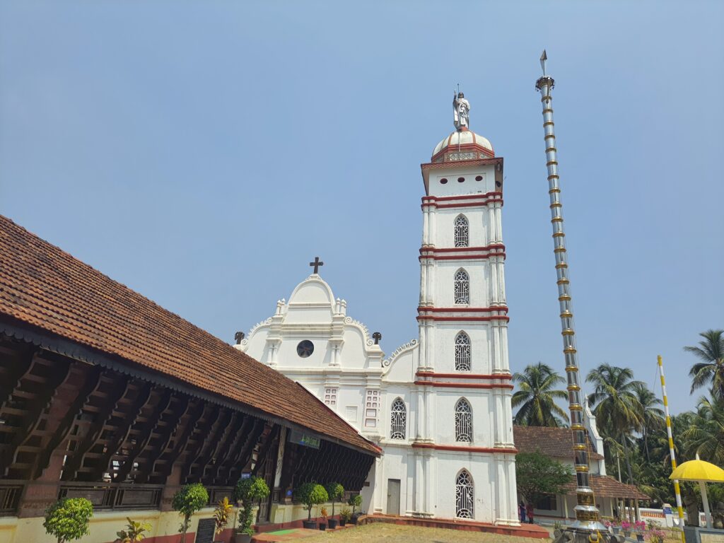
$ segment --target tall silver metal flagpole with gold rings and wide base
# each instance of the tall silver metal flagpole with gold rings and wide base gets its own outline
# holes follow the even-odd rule
[[[571,431],[573,433],[573,460],[576,467],[576,522],[571,525],[576,542],[594,541],[606,527],[599,520],[593,489],[589,482],[589,455],[586,447],[586,428],[583,424],[583,405],[581,405],[581,386],[578,384],[578,362],[576,361],[576,336],[573,332],[573,312],[571,311],[571,291],[568,280],[568,263],[565,256],[565,233],[563,232],[563,204],[560,201],[558,185],[558,159],[553,130],[553,108],[551,90],[554,81],[546,75],[546,52],[541,56],[543,77],[536,81],[536,90],[541,93],[543,104],[543,130],[545,132],[546,167],[548,169],[548,194],[550,195],[551,223],[553,225],[553,244],[555,270],[560,303],[560,323],[563,328],[563,354],[565,355],[565,373],[568,377],[568,409],[571,413]]]

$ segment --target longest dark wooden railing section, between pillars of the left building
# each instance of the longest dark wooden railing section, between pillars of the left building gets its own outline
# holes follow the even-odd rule
[[[84,497],[94,510],[159,509],[164,487],[151,484],[62,484],[58,497]]]

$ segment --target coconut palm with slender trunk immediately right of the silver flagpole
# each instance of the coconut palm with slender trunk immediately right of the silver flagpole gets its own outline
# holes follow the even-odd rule
[[[593,413],[599,428],[611,437],[620,439],[628,470],[628,481],[633,484],[628,437],[631,432],[643,426],[642,409],[636,397],[636,388],[646,385],[633,380],[633,371],[630,368],[619,368],[607,363],[592,369],[586,376],[586,382],[594,385],[594,392],[589,395],[588,400],[595,406]]]

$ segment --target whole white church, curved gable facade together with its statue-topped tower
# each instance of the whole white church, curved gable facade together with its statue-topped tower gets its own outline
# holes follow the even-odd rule
[[[364,510],[517,525],[503,160],[468,109],[460,94],[457,130],[421,166],[419,337],[385,356],[318,264],[237,348],[382,447]]]

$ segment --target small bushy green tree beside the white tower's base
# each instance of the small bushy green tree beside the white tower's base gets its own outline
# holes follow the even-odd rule
[[[561,494],[571,483],[573,468],[553,460],[539,450],[515,455],[515,480],[518,494],[527,503],[535,504],[549,494]]]

